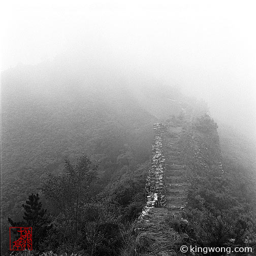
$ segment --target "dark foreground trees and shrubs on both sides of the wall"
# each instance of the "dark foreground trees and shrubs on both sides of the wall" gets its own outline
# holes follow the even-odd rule
[[[236,188],[247,182],[249,172],[246,174],[243,170],[241,176],[241,169],[231,163],[226,164],[225,173],[220,172],[215,163],[219,150],[216,128],[213,120],[204,115],[196,119],[195,124],[186,126],[183,135],[187,140],[187,134],[192,134],[193,141],[201,145],[192,151],[184,147],[183,151],[187,166],[193,168],[188,174],[191,175],[188,207],[182,216],[169,216],[166,224],[160,220],[158,223],[172,237],[172,248],[177,253],[182,244],[247,247],[256,242],[253,182],[247,183],[246,189],[240,189],[238,195]],[[183,146],[182,139],[180,145]],[[204,152],[205,147],[208,153]],[[195,148],[200,149],[202,155],[190,157]],[[77,158],[75,165],[66,157],[62,172],[45,176],[41,193],[50,215],[45,216],[46,210],[42,209],[37,194],[30,195],[23,205],[26,224],[9,219],[13,226],[37,227],[35,234],[44,234],[35,243],[33,252],[17,255],[144,255],[154,239],[134,229],[135,220],[145,205],[144,184],[149,166],[136,165],[127,145],[117,163],[121,169],[104,189],[98,189],[98,166],[85,154]],[[211,169],[206,170],[201,163]]]

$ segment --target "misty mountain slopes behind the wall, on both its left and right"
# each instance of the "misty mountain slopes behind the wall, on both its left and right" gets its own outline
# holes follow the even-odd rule
[[[108,63],[98,64],[61,58],[2,74],[5,228],[8,216],[20,216],[21,204],[28,194],[38,191],[44,174],[62,170],[65,155],[74,161],[85,152],[97,161],[99,187],[103,188],[125,172],[125,165],[137,171],[146,166],[153,123],[175,118],[190,123],[208,112],[204,102],[184,97],[177,88],[141,74],[125,76],[122,68],[114,70]],[[239,202],[254,207],[255,149],[227,127],[219,131],[229,189]],[[190,147],[183,142],[180,147]],[[215,149],[209,151],[209,159]]]

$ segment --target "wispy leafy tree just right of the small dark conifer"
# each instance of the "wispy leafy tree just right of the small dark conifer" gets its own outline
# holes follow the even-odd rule
[[[57,229],[63,239],[76,244],[81,233],[84,204],[93,195],[91,184],[96,178],[97,166],[87,155],[72,165],[68,157],[62,174],[48,175],[41,189],[55,211]]]

